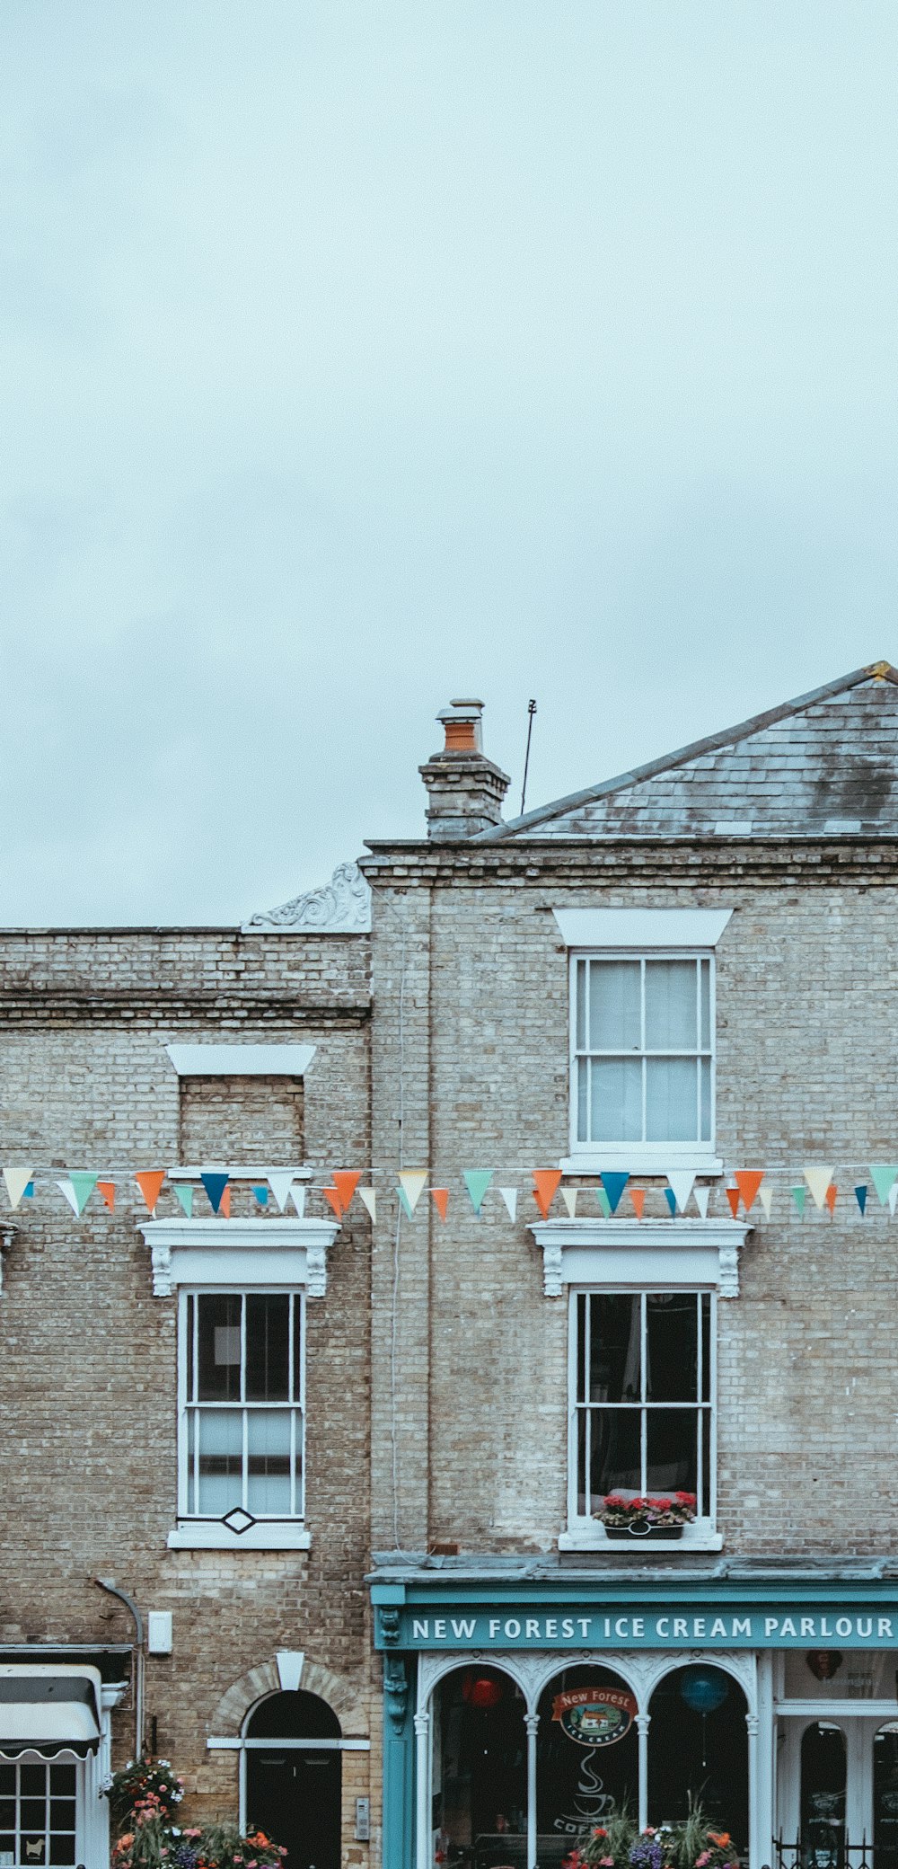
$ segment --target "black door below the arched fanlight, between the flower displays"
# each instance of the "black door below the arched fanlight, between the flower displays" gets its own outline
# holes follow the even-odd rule
[[[284,1869],[340,1869],[340,1751],[246,1753],[246,1819],[288,1850]]]

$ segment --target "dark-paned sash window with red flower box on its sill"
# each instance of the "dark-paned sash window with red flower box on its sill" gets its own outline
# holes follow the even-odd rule
[[[715,1293],[573,1297],[571,1519],[607,1493],[693,1493],[715,1516]]]

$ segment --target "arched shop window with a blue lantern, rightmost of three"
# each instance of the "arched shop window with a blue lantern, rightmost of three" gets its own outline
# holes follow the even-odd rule
[[[650,1701],[648,1820],[676,1824],[696,1802],[749,1847],[749,1727],[739,1684],[721,1667],[678,1667]]]

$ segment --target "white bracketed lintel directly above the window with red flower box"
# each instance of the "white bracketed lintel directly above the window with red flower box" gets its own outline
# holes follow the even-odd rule
[[[745,1220],[538,1220],[530,1228],[543,1254],[545,1297],[564,1288],[633,1286],[713,1290],[739,1297]]]

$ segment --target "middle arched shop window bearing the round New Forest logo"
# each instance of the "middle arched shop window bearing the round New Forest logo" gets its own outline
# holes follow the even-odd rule
[[[637,1697],[609,1667],[566,1667],[540,1699],[536,1824],[540,1863],[560,1862],[612,1805],[638,1809]]]

